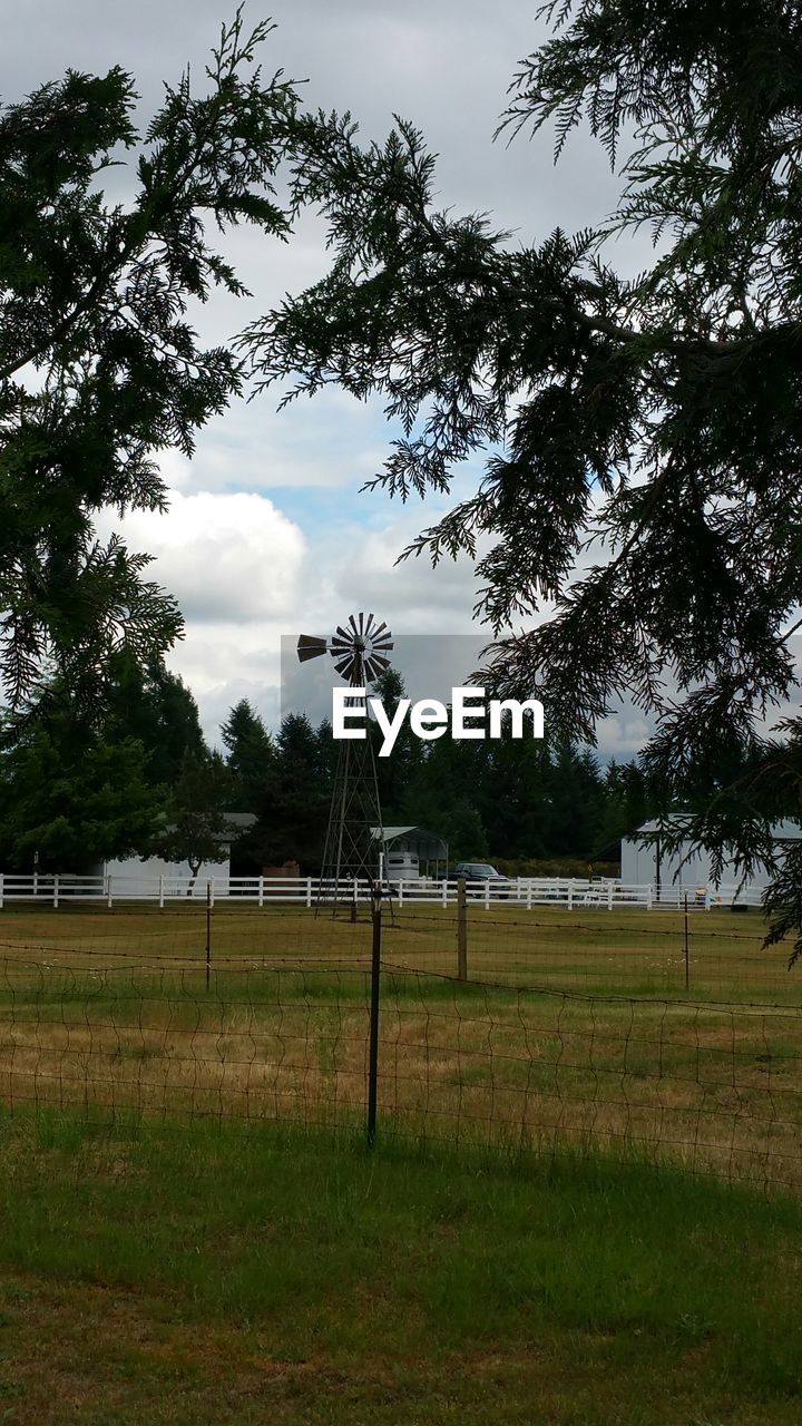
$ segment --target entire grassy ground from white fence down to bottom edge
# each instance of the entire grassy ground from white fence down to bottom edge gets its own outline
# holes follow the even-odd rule
[[[207,968],[203,907],[0,913],[0,1422],[801,1419],[783,953],[469,933],[460,983],[451,914],[385,927],[370,1152],[370,923],[218,907]]]

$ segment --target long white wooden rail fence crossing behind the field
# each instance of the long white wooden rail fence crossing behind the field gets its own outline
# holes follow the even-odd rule
[[[341,897],[342,897],[341,883]],[[454,906],[457,903],[455,881],[428,881],[425,878],[390,883],[397,906],[430,904]],[[325,896],[331,884],[323,887]],[[532,910],[538,906],[562,906],[568,910],[601,908],[666,908],[684,907],[688,897],[689,910],[714,910],[716,907],[761,906],[759,887],[704,887],[704,886],[628,886],[616,880],[581,881],[575,877],[515,877],[509,881],[468,881],[468,898],[489,910],[497,906],[515,906]],[[121,901],[150,901],[160,907],[168,901],[186,901],[187,897],[213,901],[253,903],[255,906],[315,906],[320,894],[317,877],[217,877],[196,881],[190,877],[76,877],[76,876],[17,876],[0,873],[0,908],[7,903],[33,901],[59,907],[76,901],[98,901],[116,906]],[[368,881],[345,884],[348,900],[368,901]]]

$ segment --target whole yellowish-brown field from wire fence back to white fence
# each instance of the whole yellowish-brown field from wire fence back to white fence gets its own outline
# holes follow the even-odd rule
[[[451,915],[405,910],[388,925],[382,1132],[549,1155],[635,1148],[802,1189],[802,983],[783,951],[761,953],[749,917],[698,913],[686,995],[681,918],[632,913],[622,947],[615,915],[472,910],[469,984],[452,978]],[[3,911],[0,1099],[96,1119],[352,1128],[370,934],[218,908],[207,987],[203,907]]]

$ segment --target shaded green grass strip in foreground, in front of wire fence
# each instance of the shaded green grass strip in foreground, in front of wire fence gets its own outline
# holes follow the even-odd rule
[[[3,1119],[14,1426],[796,1426],[802,1205],[604,1159]]]

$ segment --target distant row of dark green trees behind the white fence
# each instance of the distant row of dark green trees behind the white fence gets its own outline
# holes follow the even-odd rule
[[[375,692],[392,713],[395,670]],[[108,665],[104,713],[86,714],[61,677],[0,722],[0,867],[88,873],[127,856],[201,861],[221,856],[227,814],[253,813],[238,837],[241,874],[297,861],[320,868],[338,744],[327,720],[293,713],[271,733],[247,699],[207,744],[191,692],[161,659]],[[370,726],[378,746],[378,730]],[[636,761],[606,767],[588,750],[505,736],[422,743],[404,727],[377,757],[385,826],[438,833],[451,858],[495,858],[515,870],[539,858],[618,860],[622,836],[651,811]],[[514,870],[509,866],[509,870]]]

